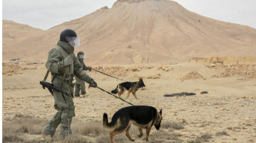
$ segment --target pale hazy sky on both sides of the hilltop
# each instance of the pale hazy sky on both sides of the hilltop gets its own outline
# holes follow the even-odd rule
[[[47,30],[83,17],[116,0],[2,0],[2,20]],[[174,0],[187,10],[256,29],[256,0]]]

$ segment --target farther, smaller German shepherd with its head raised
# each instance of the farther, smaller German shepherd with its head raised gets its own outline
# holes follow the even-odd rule
[[[145,87],[145,84],[143,82],[143,80],[140,78],[140,80],[138,82],[124,82],[124,83],[120,83],[117,85],[116,89],[115,90],[112,90],[111,93],[113,94],[116,94],[118,93],[118,96],[121,97],[121,95],[126,91],[128,90],[128,93],[127,93],[127,97],[129,97],[130,93],[133,94],[133,96],[137,98],[136,96],[136,92],[142,88],[142,87]]]

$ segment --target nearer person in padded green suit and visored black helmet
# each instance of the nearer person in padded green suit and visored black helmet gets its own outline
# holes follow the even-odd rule
[[[55,87],[73,96],[73,86],[70,86],[70,78],[77,76],[79,79],[97,87],[97,83],[89,77],[81,68],[77,57],[74,54],[74,47],[80,46],[79,37],[72,29],[65,29],[60,33],[60,40],[57,45],[49,51],[46,68],[52,74],[51,82]],[[72,97],[63,95],[61,92],[53,91],[54,107],[58,112],[53,115],[49,124],[43,129],[42,137],[52,140],[56,128],[60,124],[60,137],[65,138],[72,134],[70,124],[75,116],[75,105]]]

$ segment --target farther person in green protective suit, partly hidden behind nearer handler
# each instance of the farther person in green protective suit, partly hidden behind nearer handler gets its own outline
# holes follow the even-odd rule
[[[85,54],[82,51],[79,51],[77,53],[77,59],[78,59],[80,66],[82,67],[83,70],[89,70],[91,72],[92,68],[87,67],[85,65],[85,63],[83,62],[83,59],[85,59]],[[81,94],[84,96],[86,94],[85,82],[83,80],[79,79],[78,77],[76,77],[75,97],[80,96],[80,94],[79,94],[80,90],[81,90]]]

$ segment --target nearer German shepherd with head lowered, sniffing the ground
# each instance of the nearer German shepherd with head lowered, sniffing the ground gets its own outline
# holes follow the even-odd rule
[[[126,131],[126,136],[134,142],[134,138],[131,137],[129,130],[131,124],[138,127],[139,133],[137,136],[141,138],[143,136],[142,129],[146,129],[146,141],[148,142],[148,136],[150,130],[154,125],[157,130],[161,127],[162,109],[157,112],[157,109],[151,106],[129,106],[118,110],[110,123],[108,123],[108,115],[103,114],[103,125],[107,130],[111,130],[109,133],[111,143],[114,143],[114,136]]]

